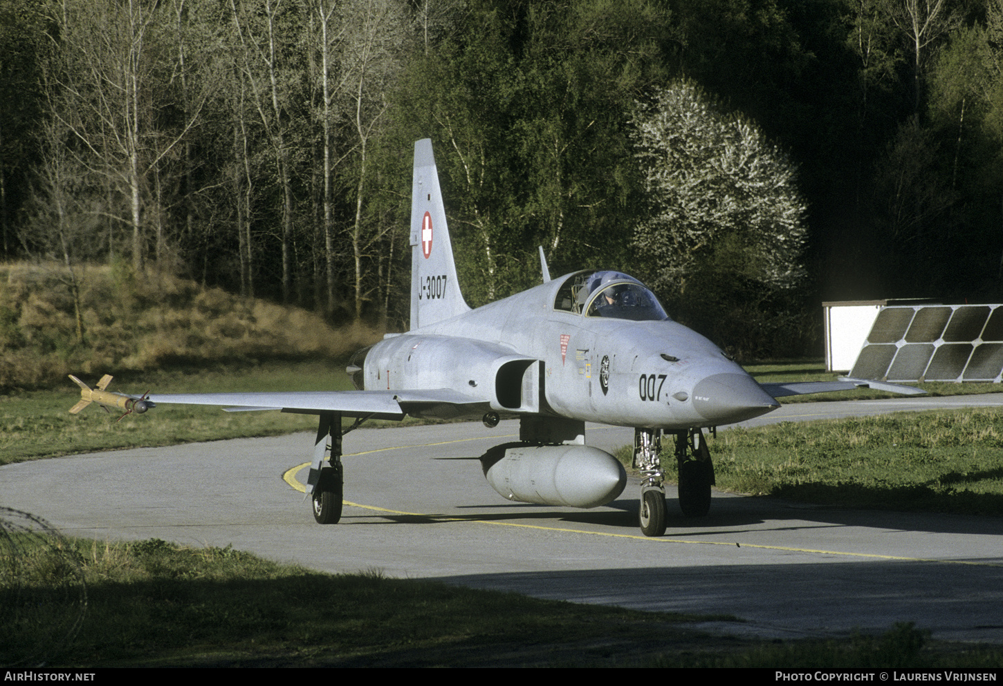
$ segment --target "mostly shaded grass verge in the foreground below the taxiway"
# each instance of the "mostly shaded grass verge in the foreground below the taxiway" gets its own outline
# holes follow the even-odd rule
[[[543,601],[378,571],[332,576],[229,547],[68,540],[62,551],[82,571],[87,607],[50,667],[990,668],[1003,659],[998,647],[933,642],[905,624],[883,636],[824,641],[726,638],[692,624],[732,617]],[[23,575],[15,613],[59,586],[50,569],[39,564]],[[11,608],[11,591],[4,594],[0,605]],[[6,619],[0,662],[52,640],[44,617]]]

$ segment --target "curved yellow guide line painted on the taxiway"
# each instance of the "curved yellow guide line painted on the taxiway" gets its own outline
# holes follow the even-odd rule
[[[472,441],[474,439],[464,439],[466,441]],[[458,441],[448,441],[446,443],[459,443]],[[442,444],[428,444],[433,446],[438,446]],[[383,448],[380,450],[395,450],[391,448]],[[378,451],[370,451],[376,453]],[[365,455],[364,453],[355,453],[355,455]],[[310,463],[303,463],[297,467],[293,467],[287,470],[285,474],[282,475],[283,480],[292,486],[294,489],[300,493],[306,493],[306,487],[296,480],[296,473],[299,472],[304,467],[308,467]],[[519,527],[521,529],[537,529],[540,531],[556,531],[568,534],[584,534],[586,536],[605,536],[609,538],[618,539],[631,539],[634,541],[646,541],[648,543],[686,543],[691,545],[700,546],[728,546],[732,548],[758,548],[760,550],[778,550],[787,553],[810,553],[814,555],[839,555],[843,557],[852,558],[871,558],[877,560],[899,560],[903,562],[939,562],[946,565],[970,565],[973,567],[1003,567],[999,563],[993,562],[971,562],[968,560],[941,560],[936,558],[910,558],[900,555],[879,555],[876,553],[848,553],[845,551],[838,550],[815,550],[813,548],[792,548],[789,546],[766,546],[756,543],[738,543],[738,542],[728,542],[728,541],[693,541],[688,539],[669,539],[664,537],[651,538],[649,536],[639,536],[637,534],[612,534],[609,532],[602,531],[584,531],[582,529],[568,529],[565,527],[543,527],[536,524],[519,524],[517,522],[494,522],[491,520],[482,519],[472,519],[467,517],[452,517],[447,515],[426,515],[417,512],[403,512],[400,510],[389,510],[387,508],[377,508],[373,505],[360,505],[359,503],[352,503],[350,501],[342,501],[343,505],[347,505],[353,508],[360,508],[362,510],[371,510],[373,512],[385,512],[391,515],[400,515],[403,517],[420,517],[423,519],[434,520],[436,522],[469,522],[471,524],[488,524],[496,527]]]

